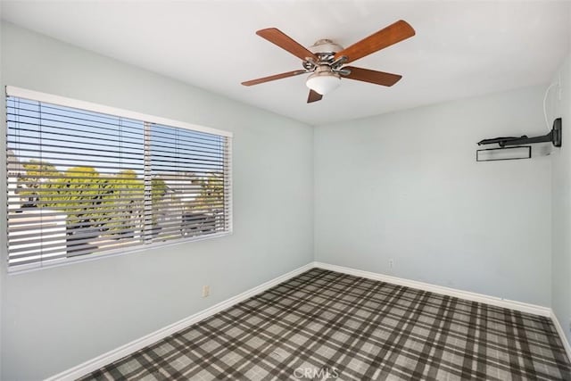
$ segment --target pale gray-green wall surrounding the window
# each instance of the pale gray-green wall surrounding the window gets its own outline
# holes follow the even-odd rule
[[[309,126],[10,24],[1,30],[3,88],[235,134],[233,236],[6,276],[0,235],[2,379],[54,375],[313,260]]]

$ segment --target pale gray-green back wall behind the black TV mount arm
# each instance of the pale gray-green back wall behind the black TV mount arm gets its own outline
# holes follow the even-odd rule
[[[550,306],[550,158],[476,162],[547,132],[543,90],[317,127],[316,261]]]

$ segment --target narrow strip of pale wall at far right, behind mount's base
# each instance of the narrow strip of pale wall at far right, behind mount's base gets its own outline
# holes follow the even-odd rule
[[[561,117],[563,145],[554,150],[552,162],[552,309],[571,343],[571,55],[553,81],[561,84],[550,91],[551,118]]]

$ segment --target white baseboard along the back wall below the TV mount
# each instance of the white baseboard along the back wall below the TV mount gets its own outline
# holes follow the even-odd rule
[[[331,265],[323,262],[314,262],[315,267],[319,269],[329,269],[331,271],[342,272],[343,274],[354,275],[356,277],[367,277],[368,279],[380,280],[382,282],[391,283],[393,285],[407,286],[417,288],[419,290],[430,291],[435,294],[454,296],[459,299],[466,299],[472,302],[483,302],[498,307],[509,308],[510,310],[522,311],[533,313],[540,316],[551,316],[551,309],[549,307],[542,307],[535,304],[528,304],[525,302],[510,301],[496,296],[471,293],[469,291],[462,291],[451,287],[436,286],[425,282],[418,282],[416,280],[404,279],[402,277],[392,277],[390,275],[379,274],[376,272],[363,271],[360,269],[351,269],[348,267]]]

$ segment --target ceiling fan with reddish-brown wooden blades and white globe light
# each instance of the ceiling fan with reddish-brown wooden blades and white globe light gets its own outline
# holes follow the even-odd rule
[[[317,102],[330,91],[341,85],[341,79],[354,79],[382,86],[393,86],[402,78],[398,74],[384,71],[343,66],[357,61],[368,54],[375,53],[415,35],[414,29],[406,21],[396,21],[388,27],[363,38],[352,46],[343,49],[329,39],[320,39],[314,45],[305,48],[279,29],[268,28],[256,32],[260,37],[285,49],[302,60],[303,70],[287,71],[260,79],[242,82],[244,86],[259,85],[276,79],[294,77],[311,73],[305,84],[310,88],[307,103]]]

